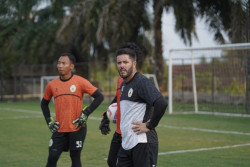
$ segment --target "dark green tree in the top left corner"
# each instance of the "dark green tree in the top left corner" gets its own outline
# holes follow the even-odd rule
[[[49,3],[41,8],[42,4]],[[74,1],[0,1],[0,50],[6,62],[51,63],[57,57],[55,33]],[[11,55],[11,56],[10,56]],[[44,59],[46,55],[46,59]]]

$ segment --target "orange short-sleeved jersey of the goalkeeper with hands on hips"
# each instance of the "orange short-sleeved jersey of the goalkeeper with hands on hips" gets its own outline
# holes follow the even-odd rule
[[[73,120],[82,112],[84,93],[92,95],[97,90],[88,80],[73,75],[69,80],[62,81],[59,77],[49,82],[43,98],[55,102],[55,120],[60,123],[58,132],[74,132]]]

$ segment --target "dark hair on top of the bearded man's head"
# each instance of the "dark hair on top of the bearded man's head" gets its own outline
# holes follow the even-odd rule
[[[133,42],[126,42],[119,46],[116,57],[122,54],[128,54],[131,59],[138,61],[138,58],[141,56],[141,49]]]

